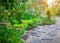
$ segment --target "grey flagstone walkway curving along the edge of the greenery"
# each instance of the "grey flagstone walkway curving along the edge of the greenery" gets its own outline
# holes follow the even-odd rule
[[[22,36],[25,43],[60,43],[60,17],[53,25],[37,26]]]

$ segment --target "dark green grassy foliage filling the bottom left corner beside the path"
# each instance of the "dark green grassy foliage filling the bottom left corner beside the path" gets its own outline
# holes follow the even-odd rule
[[[18,30],[0,29],[0,43],[23,43],[19,37]]]

